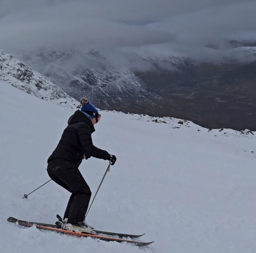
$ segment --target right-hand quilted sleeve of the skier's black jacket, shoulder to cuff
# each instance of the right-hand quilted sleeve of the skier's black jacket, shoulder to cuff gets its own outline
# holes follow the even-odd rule
[[[110,154],[106,150],[99,149],[92,144],[91,129],[87,124],[81,124],[77,128],[77,134],[87,154],[99,159],[110,159]]]

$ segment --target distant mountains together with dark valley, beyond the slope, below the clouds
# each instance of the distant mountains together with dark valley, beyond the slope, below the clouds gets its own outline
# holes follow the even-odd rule
[[[240,42],[229,50],[209,46],[201,58],[142,56],[145,68],[137,71],[124,70],[97,51],[22,57],[71,97],[86,95],[102,109],[185,118],[207,128],[256,130],[254,44]]]

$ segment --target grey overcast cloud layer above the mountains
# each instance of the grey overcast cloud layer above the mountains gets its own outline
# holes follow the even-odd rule
[[[0,49],[202,53],[256,38],[255,13],[246,0],[0,0]]]

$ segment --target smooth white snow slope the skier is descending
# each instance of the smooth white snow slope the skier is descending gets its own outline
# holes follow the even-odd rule
[[[12,108],[9,106],[10,99]],[[49,180],[46,160],[74,109],[0,81],[0,245],[5,253],[135,253],[127,243],[21,228],[9,216],[53,223],[69,194]],[[166,123],[161,123],[166,121]],[[92,139],[117,157],[87,217],[96,229],[146,233],[152,253],[256,252],[255,132],[209,130],[191,122],[102,112]],[[159,123],[160,122],[160,123]],[[179,128],[177,128],[179,127]],[[198,131],[200,130],[200,131]],[[225,134],[224,134],[225,133]],[[80,170],[92,193],[108,166]]]

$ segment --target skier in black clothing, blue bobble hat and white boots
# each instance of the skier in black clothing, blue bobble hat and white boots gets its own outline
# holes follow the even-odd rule
[[[91,156],[111,161],[115,164],[115,155],[95,147],[91,134],[94,125],[100,121],[101,115],[86,98],[80,100],[81,111],[77,110],[68,120],[59,144],[47,160],[49,177],[60,186],[71,192],[61,228],[95,234],[84,217],[91,198],[91,190],[78,167],[82,159]]]

